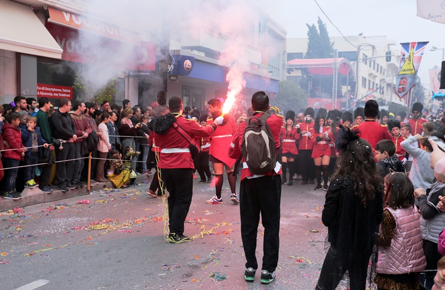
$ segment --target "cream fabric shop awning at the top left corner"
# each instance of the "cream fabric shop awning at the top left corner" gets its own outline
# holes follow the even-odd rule
[[[63,50],[29,6],[0,0],[0,49],[61,58]]]

